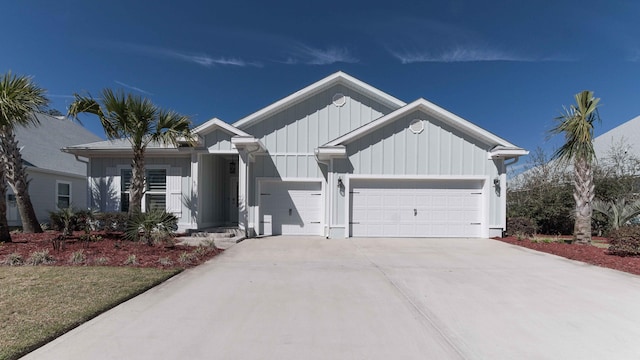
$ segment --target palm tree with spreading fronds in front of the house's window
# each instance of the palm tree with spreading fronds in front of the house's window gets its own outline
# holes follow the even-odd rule
[[[181,140],[191,143],[191,121],[187,116],[160,109],[146,98],[123,91],[104,89],[99,100],[90,95],[74,94],[74,97],[69,116],[96,115],[109,140],[126,138],[131,143],[133,159],[128,214],[132,217],[142,209],[147,146],[150,143],[178,146]]]

